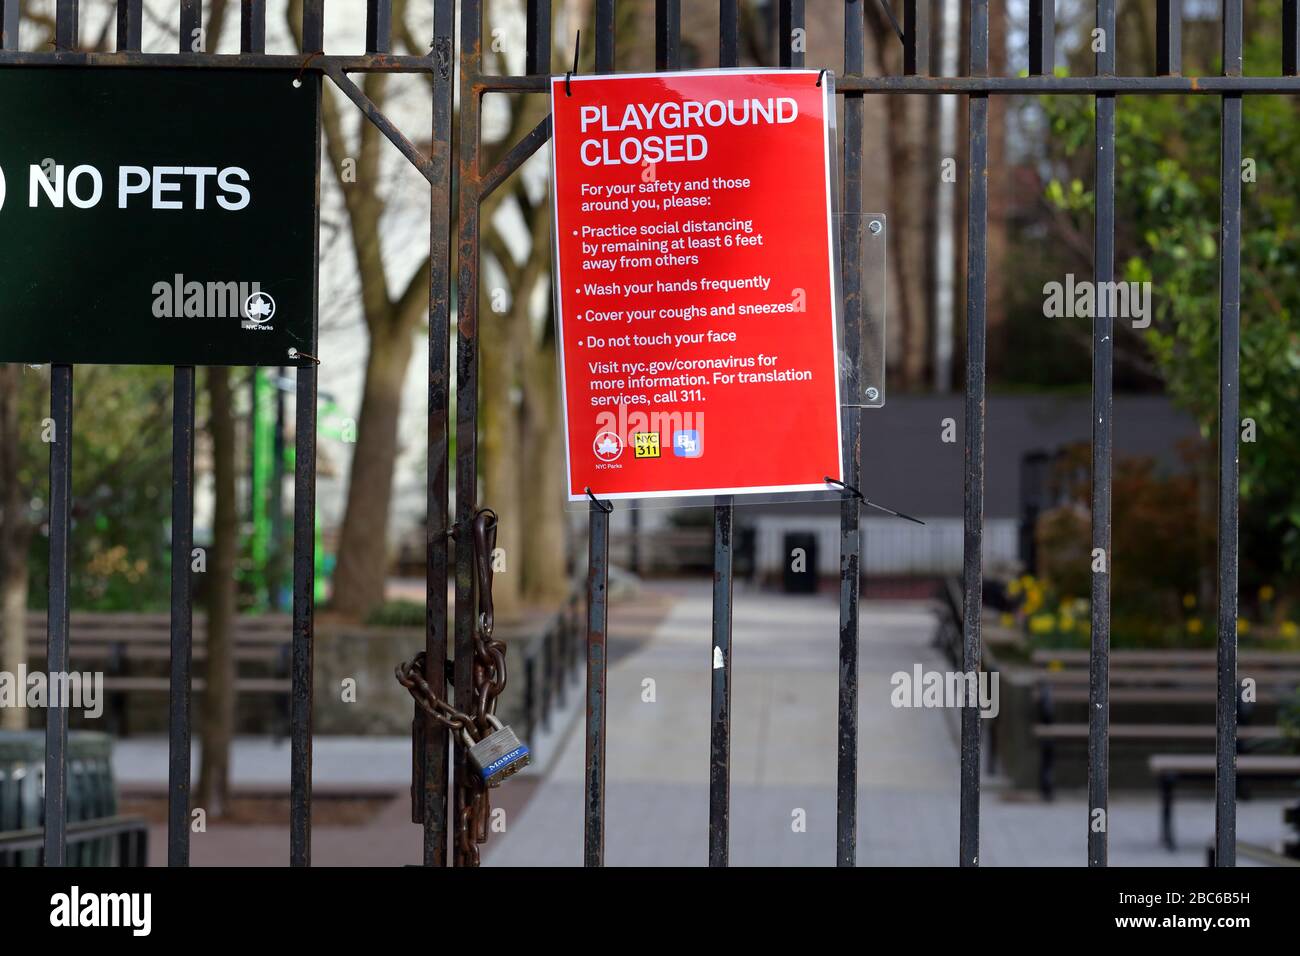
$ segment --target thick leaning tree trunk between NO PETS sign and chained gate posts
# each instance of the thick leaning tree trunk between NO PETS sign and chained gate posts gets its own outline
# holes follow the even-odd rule
[[[377,324],[370,329],[365,392],[356,423],[356,449],[332,598],[334,610],[358,618],[384,602],[402,384],[413,342],[413,334],[404,326],[393,332],[389,324]]]

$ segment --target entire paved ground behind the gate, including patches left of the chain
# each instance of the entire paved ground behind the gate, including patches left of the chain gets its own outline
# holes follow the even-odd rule
[[[649,585],[658,594],[615,604],[610,627],[606,862],[702,866],[708,826],[707,581]],[[662,598],[655,600],[655,598]],[[660,617],[667,602],[671,610]],[[836,701],[838,610],[835,596],[788,597],[736,591],[733,628],[732,825],[733,865],[826,866],[835,861]],[[859,672],[859,865],[957,862],[957,714],[894,709],[889,678],[920,663],[946,670],[931,646],[933,620],[919,602],[867,602]],[[645,702],[646,680],[654,702]],[[511,780],[495,805],[507,830],[485,848],[488,865],[582,862],[582,692],[551,734],[529,741],[538,766]],[[166,740],[118,741],[120,780],[157,790],[165,782]],[[198,761],[195,760],[195,766]],[[328,737],[315,741],[318,791],[389,791],[396,799],[368,825],[317,822],[317,865],[402,865],[420,858],[420,830],[408,822],[410,741]],[[237,787],[287,790],[289,747],[240,739],[233,754]],[[1283,803],[1238,808],[1242,840],[1273,844]],[[1086,804],[1062,796],[1017,800],[985,782],[982,803],[984,865],[1078,866],[1086,861]],[[1112,800],[1114,865],[1202,866],[1213,835],[1209,799],[1180,796],[1179,852],[1158,845],[1154,793]],[[286,810],[287,817],[287,810]],[[806,822],[802,831],[796,819]],[[286,821],[287,822],[287,821]],[[151,860],[165,861],[166,831],[155,826]],[[287,827],[216,823],[192,836],[196,865],[283,865]]]

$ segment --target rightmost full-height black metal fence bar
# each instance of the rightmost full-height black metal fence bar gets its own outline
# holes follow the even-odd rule
[[[1242,0],[1223,0],[1223,75],[1242,75]],[[1242,94],[1223,96],[1219,160],[1218,693],[1214,865],[1236,866],[1238,441],[1242,363]]]

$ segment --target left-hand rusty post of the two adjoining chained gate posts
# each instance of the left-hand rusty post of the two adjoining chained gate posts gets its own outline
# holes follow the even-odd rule
[[[451,121],[455,79],[455,0],[437,0],[433,12],[433,137],[429,160],[429,437],[425,528],[424,679],[447,698],[447,455],[451,368]],[[424,726],[424,865],[447,865],[447,730]]]

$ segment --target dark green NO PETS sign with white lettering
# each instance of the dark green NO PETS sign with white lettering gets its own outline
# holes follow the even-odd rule
[[[308,362],[320,95],[296,70],[0,66],[0,362]]]

